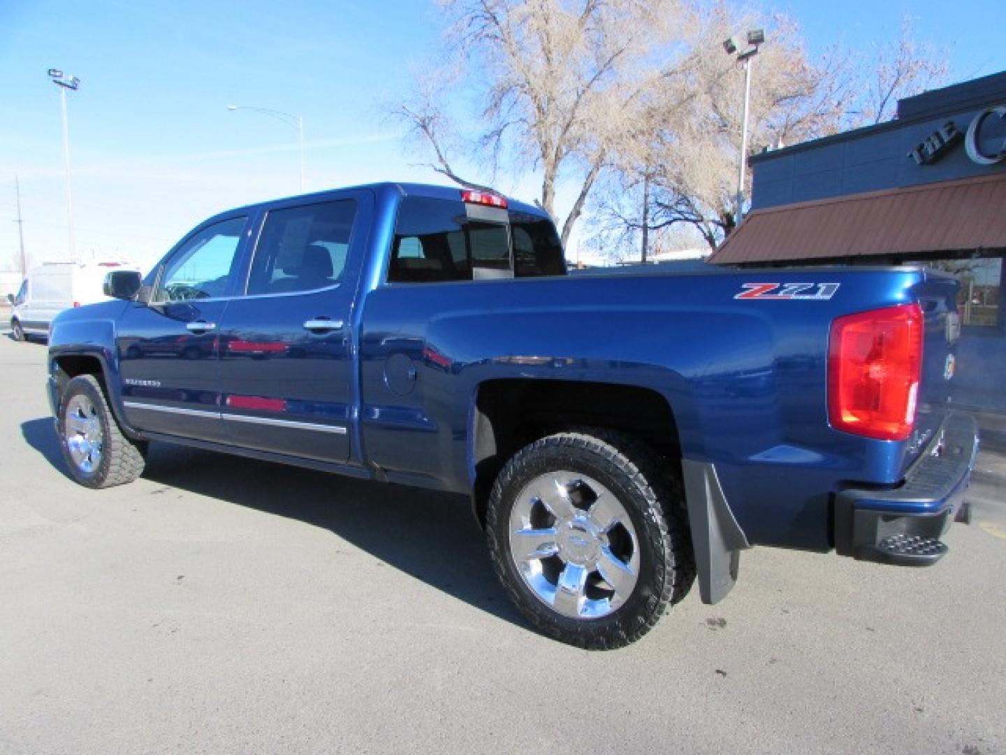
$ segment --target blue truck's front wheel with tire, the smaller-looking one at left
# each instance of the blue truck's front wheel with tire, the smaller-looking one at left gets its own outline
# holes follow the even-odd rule
[[[66,384],[57,429],[69,473],[81,485],[112,487],[143,473],[145,444],[123,434],[94,375]]]

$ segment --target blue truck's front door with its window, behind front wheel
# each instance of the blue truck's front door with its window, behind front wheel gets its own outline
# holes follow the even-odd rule
[[[123,402],[134,427],[224,440],[219,325],[247,224],[235,216],[197,229],[160,267],[150,303],[130,305],[120,319]]]

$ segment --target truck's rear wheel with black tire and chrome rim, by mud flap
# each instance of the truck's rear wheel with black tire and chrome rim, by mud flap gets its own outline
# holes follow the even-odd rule
[[[523,448],[500,472],[486,521],[520,611],[580,647],[639,639],[695,578],[680,485],[618,433],[560,433]]]

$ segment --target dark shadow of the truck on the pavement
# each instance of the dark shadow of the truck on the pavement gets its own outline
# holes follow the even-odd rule
[[[64,476],[52,422],[21,425],[24,440]],[[329,530],[374,558],[518,626],[467,497],[310,469],[151,444],[144,478]]]

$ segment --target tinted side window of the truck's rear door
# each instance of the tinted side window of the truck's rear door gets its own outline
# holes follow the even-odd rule
[[[248,275],[248,295],[315,291],[342,277],[356,201],[274,209],[266,217]]]

